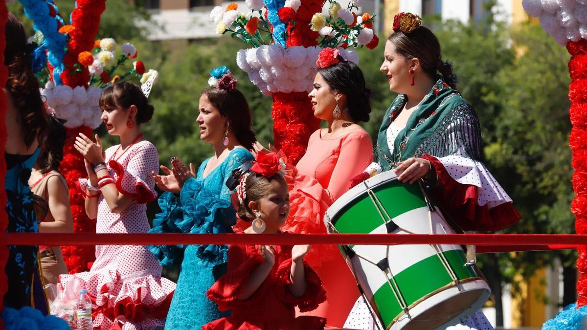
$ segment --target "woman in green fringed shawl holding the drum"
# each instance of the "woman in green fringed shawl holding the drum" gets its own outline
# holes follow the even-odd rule
[[[479,120],[456,90],[457,77],[452,63],[441,60],[438,39],[409,13],[396,15],[393,29],[380,71],[399,95],[379,130],[377,161],[366,172],[394,170],[409,184],[424,179],[464,231],[496,231],[517,223],[521,217],[511,198],[480,162]],[[481,311],[463,325],[492,329]],[[377,328],[362,298],[345,327]]]

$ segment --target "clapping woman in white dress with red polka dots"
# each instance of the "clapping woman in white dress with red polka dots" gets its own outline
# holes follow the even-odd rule
[[[146,203],[157,193],[151,171],[159,166],[157,149],[143,139],[140,125],[153,116],[139,86],[116,83],[100,96],[102,120],[120,144],[102,152],[96,135],[92,142],[82,133],[75,148],[85,157],[86,213],[96,219],[96,233],[147,233]],[[96,261],[89,272],[60,275],[61,287],[87,289],[92,298],[93,327],[151,329],[165,323],[176,285],[161,278],[161,266],[142,245],[96,245]],[[81,281],[80,281],[81,280]],[[81,287],[80,287],[81,284]]]

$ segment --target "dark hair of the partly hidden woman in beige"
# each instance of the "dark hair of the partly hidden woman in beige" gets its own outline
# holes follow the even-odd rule
[[[59,168],[59,164],[63,160],[63,145],[65,144],[66,136],[67,131],[63,124],[55,117],[49,117],[46,134],[41,143],[41,153],[39,153],[36,162],[41,169],[41,173],[56,171]]]

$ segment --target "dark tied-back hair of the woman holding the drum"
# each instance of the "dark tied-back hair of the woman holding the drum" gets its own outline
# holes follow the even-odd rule
[[[440,42],[426,26],[420,26],[410,33],[393,32],[388,41],[396,46],[396,52],[405,59],[417,58],[424,72],[433,80],[437,79],[437,72],[443,76],[444,82],[452,89],[457,89],[458,79],[453,72],[453,66],[443,62],[440,55]]]

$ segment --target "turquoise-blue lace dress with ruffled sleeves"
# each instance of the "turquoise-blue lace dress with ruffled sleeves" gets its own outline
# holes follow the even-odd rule
[[[225,182],[232,170],[253,156],[248,150],[235,148],[203,177],[209,160],[200,165],[195,178],[185,181],[179,196],[168,192],[159,197],[161,213],[149,233],[232,233],[236,211]],[[230,315],[206,297],[208,288],[227,271],[228,245],[156,245],[149,250],[164,267],[181,267],[166,329],[199,329]]]

